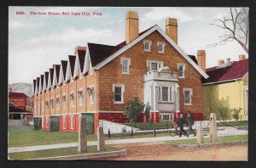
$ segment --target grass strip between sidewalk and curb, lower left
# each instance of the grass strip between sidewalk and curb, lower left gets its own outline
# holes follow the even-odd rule
[[[96,150],[96,146],[88,146],[87,154],[98,153]],[[106,146],[106,149],[101,152],[111,152],[117,151],[119,148],[113,148],[110,146]],[[27,159],[37,159],[37,158],[47,158],[54,156],[66,156],[66,155],[74,155],[78,154],[78,148],[56,148],[56,149],[47,149],[47,150],[38,150],[31,152],[20,152],[20,153],[12,153],[9,154],[9,158],[11,160],[27,160]]]

